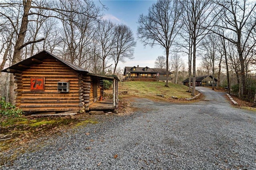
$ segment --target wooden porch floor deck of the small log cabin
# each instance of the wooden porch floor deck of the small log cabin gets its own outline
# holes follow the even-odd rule
[[[96,101],[95,103],[89,106],[89,111],[96,111],[96,110],[114,110],[118,108],[118,102],[113,105],[112,100],[103,100],[103,101]]]

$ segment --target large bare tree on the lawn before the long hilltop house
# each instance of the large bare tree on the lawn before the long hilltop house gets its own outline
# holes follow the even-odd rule
[[[169,87],[169,53],[170,47],[177,36],[180,25],[182,6],[178,0],[159,0],[153,4],[148,15],[141,14],[138,18],[138,38],[144,46],[160,45],[166,52],[166,87]]]

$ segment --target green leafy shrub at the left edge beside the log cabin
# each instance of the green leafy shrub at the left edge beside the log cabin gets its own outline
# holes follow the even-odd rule
[[[4,97],[0,99],[0,119],[13,119],[22,115],[21,109],[16,109],[14,105],[5,101]]]

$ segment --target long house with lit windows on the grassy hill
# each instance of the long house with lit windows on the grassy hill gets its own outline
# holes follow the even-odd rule
[[[169,80],[172,72],[169,71]],[[149,67],[124,67],[124,81],[166,81],[166,69]]]

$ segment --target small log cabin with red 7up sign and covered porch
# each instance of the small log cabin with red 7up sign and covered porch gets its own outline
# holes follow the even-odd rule
[[[14,74],[14,103],[25,113],[84,113],[117,108],[118,77],[89,73],[47,51],[41,51],[2,72]],[[103,80],[112,81],[111,101],[102,101]]]

